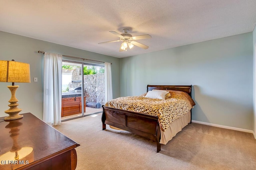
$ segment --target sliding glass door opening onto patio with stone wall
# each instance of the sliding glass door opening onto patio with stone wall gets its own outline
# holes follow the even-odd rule
[[[104,65],[62,61],[62,121],[102,112]]]

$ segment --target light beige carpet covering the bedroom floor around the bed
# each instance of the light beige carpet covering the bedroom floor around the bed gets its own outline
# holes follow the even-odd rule
[[[162,150],[156,142],[126,131],[102,131],[101,113],[55,128],[81,146],[77,170],[256,170],[251,133],[192,123]]]

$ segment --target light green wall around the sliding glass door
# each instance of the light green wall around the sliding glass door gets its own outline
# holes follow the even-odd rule
[[[42,119],[43,112],[43,56],[37,51],[45,51],[62,55],[93,59],[112,64],[112,86],[113,97],[120,96],[120,75],[119,61],[116,57],[92,53],[81,49],[75,49],[64,45],[58,45],[46,41],[23,37],[0,31],[0,60],[20,61],[30,64],[31,83],[16,83],[20,87],[16,91],[16,97],[19,100],[22,109],[20,113],[31,112]],[[37,77],[38,82],[33,82]],[[9,109],[8,100],[11,97],[10,90],[6,87],[11,83],[0,83],[0,117],[8,116],[4,113]]]

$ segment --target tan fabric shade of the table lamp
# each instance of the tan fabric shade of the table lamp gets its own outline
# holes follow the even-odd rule
[[[30,66],[17,61],[0,60],[0,82],[30,83]]]

